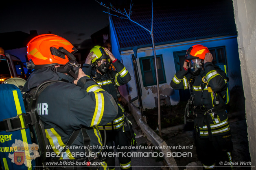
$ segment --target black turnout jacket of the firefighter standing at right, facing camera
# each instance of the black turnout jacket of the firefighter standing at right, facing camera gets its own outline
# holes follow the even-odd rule
[[[192,90],[193,104],[196,106],[194,112],[197,115],[194,126],[201,138],[208,138],[209,133],[212,133],[212,136],[230,133],[223,99],[228,88],[227,76],[218,66],[213,65],[211,62],[206,62],[204,69],[197,76],[188,73],[188,70],[182,67],[174,75],[171,87],[174,89],[190,88]],[[217,106],[214,106],[213,103],[214,93],[219,99],[219,105]],[[199,109],[200,107],[201,110]]]

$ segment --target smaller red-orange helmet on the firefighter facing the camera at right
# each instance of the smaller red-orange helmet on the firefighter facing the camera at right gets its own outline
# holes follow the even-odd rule
[[[209,49],[203,45],[193,45],[186,51],[185,60],[189,59],[202,59],[204,60],[206,53],[210,52]]]

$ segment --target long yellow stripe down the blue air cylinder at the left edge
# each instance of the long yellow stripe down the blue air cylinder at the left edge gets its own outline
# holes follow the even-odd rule
[[[22,114],[22,110],[21,110],[21,107],[20,107],[20,101],[19,101],[17,90],[13,90],[13,99],[14,99],[14,102],[15,102],[17,115]],[[22,115],[19,115],[19,118],[20,118],[21,127],[24,128],[25,125],[24,125]],[[27,136],[26,136],[26,129],[21,129],[20,132],[21,132],[21,135],[22,135],[23,146],[28,147],[28,139],[27,139]],[[25,151],[26,163],[27,163],[28,170],[32,170],[31,159],[27,159],[27,157],[30,158],[30,152],[29,152],[29,150],[26,150],[26,149],[24,151]]]

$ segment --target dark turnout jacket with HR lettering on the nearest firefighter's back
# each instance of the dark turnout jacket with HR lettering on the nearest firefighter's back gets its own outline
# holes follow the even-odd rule
[[[22,89],[22,92],[28,92],[48,80],[63,81],[47,86],[37,100],[37,114],[44,124],[51,151],[58,155],[62,150],[60,146],[64,147],[72,132],[82,127],[86,128],[90,145],[96,146],[93,151],[101,151],[102,140],[97,126],[105,125],[116,117],[116,102],[90,77],[81,77],[75,85],[72,77],[53,71],[53,67],[34,70]],[[83,145],[80,131],[70,149],[60,159],[83,157],[70,154],[85,153]]]

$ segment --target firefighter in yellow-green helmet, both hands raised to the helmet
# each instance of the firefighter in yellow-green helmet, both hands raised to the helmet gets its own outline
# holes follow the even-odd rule
[[[109,68],[110,62],[112,62],[115,70]],[[131,122],[124,115],[124,108],[118,101],[120,97],[118,86],[127,84],[131,80],[131,75],[120,60],[116,59],[107,48],[103,48],[99,45],[91,49],[83,65],[83,71],[86,75],[91,75],[101,88],[109,92],[118,105],[118,115],[114,121],[105,125],[107,131],[106,147],[113,146],[114,142],[118,152],[129,152],[129,149],[121,148],[122,146],[129,146],[131,144],[135,145],[135,134],[132,130]],[[98,126],[98,128],[103,130],[102,126]],[[113,149],[106,148],[105,151],[113,152]],[[131,169],[130,157],[127,157],[125,154],[125,157],[119,155],[118,159],[121,169]],[[106,162],[110,170],[115,168],[114,157],[107,157]]]

